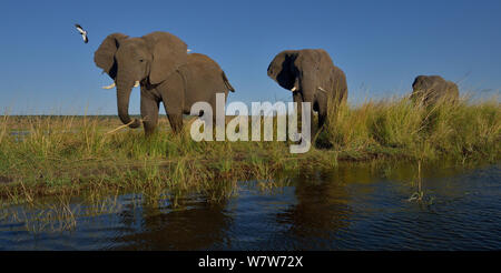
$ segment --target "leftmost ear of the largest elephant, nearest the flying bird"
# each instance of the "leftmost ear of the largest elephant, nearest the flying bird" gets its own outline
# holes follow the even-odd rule
[[[109,34],[94,53],[96,65],[105,70],[111,79],[116,77],[116,71],[112,71],[115,52],[117,52],[120,42],[127,38],[128,36],[122,33]]]

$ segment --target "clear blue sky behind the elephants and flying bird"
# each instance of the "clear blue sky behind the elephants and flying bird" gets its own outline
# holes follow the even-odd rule
[[[216,60],[236,89],[229,102],[289,101],[266,69],[279,51],[302,48],[330,52],[346,73],[351,103],[407,93],[418,74],[441,74],[473,94],[501,89],[499,0],[20,0],[0,10],[2,113],[116,114],[94,51],[112,32],[156,30]],[[139,113],[138,89],[130,112]]]

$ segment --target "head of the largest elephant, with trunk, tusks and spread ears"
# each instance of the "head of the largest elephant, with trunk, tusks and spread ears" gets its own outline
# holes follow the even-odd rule
[[[96,65],[114,80],[117,87],[118,115],[125,124],[131,122],[129,99],[137,81],[159,84],[187,62],[187,46],[167,32],[153,32],[140,38],[121,33],[108,36],[94,55]],[[140,125],[139,120],[129,124]]]

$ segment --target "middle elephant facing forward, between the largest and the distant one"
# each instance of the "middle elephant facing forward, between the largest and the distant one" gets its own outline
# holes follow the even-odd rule
[[[278,53],[268,67],[268,77],[282,88],[293,92],[294,102],[312,103],[318,113],[321,129],[327,120],[327,100],[344,103],[347,99],[347,84],[344,72],[334,65],[323,49],[285,50]],[[312,136],[316,128],[312,125]]]

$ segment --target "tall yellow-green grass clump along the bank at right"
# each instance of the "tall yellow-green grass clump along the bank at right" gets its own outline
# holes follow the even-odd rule
[[[369,101],[358,108],[330,107],[325,133],[335,150],[410,159],[500,155],[501,115],[497,99],[420,105],[409,98]]]

